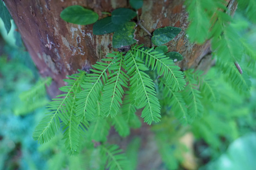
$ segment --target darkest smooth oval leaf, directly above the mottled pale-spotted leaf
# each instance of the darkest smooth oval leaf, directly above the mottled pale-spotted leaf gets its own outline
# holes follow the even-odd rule
[[[115,9],[112,13],[112,22],[114,24],[124,24],[134,18],[137,13],[128,8],[118,8]]]

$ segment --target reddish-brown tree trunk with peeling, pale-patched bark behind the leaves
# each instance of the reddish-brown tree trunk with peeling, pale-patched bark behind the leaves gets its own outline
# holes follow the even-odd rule
[[[188,14],[183,3],[183,0],[144,0],[142,9],[138,10],[139,17],[143,20],[142,25],[151,33],[156,28],[165,26],[182,28],[182,32],[165,45],[169,51],[177,51],[183,55],[183,61],[178,63],[183,70],[198,66],[206,69],[212,61],[208,55],[210,41],[202,45],[189,42],[185,34],[189,25]],[[128,0],[5,0],[5,4],[40,74],[53,77],[54,83],[48,89],[53,97],[60,93],[57,88],[64,85],[62,80],[66,75],[75,73],[77,69],[89,69],[91,64],[116,50],[112,48],[113,34],[93,35],[93,25],[67,23],[60,18],[61,11],[71,5],[81,5],[94,10],[103,18],[106,16],[101,12],[130,8]],[[135,38],[138,43],[150,46],[148,34],[139,26],[136,29]],[[144,141],[153,137],[146,125],[132,133],[136,134],[143,136]],[[146,147],[152,150],[152,145],[145,144],[145,151],[148,150]],[[150,153],[151,158],[145,158],[146,162],[151,163],[146,164],[147,167],[140,165],[141,169],[159,166],[159,160],[152,154]],[[140,164],[143,161],[145,160],[141,160]]]

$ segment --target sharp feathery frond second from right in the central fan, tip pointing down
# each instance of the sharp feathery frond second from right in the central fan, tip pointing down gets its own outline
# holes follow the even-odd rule
[[[127,75],[130,77],[131,92],[134,100],[142,110],[141,117],[147,124],[160,121],[160,104],[156,98],[153,80],[144,72],[148,68],[138,58],[137,51],[129,51],[125,56],[127,62]]]

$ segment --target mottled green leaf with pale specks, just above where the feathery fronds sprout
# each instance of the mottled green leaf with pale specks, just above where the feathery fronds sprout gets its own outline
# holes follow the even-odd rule
[[[134,39],[134,27],[136,26],[133,22],[125,23],[121,29],[117,30],[113,35],[113,47],[120,48],[126,45],[131,45],[137,42]]]

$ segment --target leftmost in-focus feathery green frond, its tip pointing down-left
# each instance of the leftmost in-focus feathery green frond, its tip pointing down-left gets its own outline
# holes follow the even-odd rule
[[[38,140],[40,144],[48,142],[55,136],[56,131],[60,128],[60,119],[65,125],[71,123],[73,115],[71,116],[70,114],[74,114],[75,106],[74,95],[81,90],[80,84],[84,80],[85,72],[81,71],[79,74],[74,74],[69,77],[72,79],[64,80],[67,82],[67,85],[60,88],[64,94],[57,96],[64,98],[53,99],[53,101],[48,104],[47,110],[50,111],[46,113],[33,133],[33,138]],[[78,124],[75,126],[77,125]],[[79,133],[79,131],[76,133]]]

